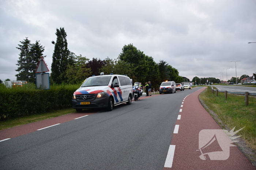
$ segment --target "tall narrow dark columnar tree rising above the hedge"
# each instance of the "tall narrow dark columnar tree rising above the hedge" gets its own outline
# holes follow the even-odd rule
[[[67,33],[65,32],[64,28],[58,29],[56,28],[56,43],[52,41],[54,44],[54,52],[52,56],[52,79],[55,83],[60,84],[62,82],[66,82],[67,78],[64,74],[68,65],[74,65],[74,53],[71,53],[68,50],[68,43],[67,43]]]

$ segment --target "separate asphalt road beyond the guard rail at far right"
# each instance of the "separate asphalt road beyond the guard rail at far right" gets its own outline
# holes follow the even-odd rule
[[[244,86],[236,86],[236,85],[229,85],[229,86],[216,85],[215,87],[217,87],[221,91],[249,92],[249,93],[256,92],[256,87],[244,87]]]

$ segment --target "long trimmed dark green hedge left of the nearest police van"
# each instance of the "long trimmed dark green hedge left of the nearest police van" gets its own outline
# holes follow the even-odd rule
[[[35,86],[6,88],[0,84],[0,119],[22,117],[32,114],[71,107],[76,85],[55,85],[50,90],[38,90]]]

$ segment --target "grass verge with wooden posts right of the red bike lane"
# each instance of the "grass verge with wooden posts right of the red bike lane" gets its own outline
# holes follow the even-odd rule
[[[211,93],[208,87],[199,95],[206,106],[218,115],[218,118],[227,127],[235,130],[242,129],[238,135],[242,135],[248,147],[256,151],[256,98],[249,96],[249,106],[245,106],[245,96],[228,94],[225,99],[224,93]]]

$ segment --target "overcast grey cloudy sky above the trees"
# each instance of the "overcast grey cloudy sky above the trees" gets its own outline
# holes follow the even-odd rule
[[[16,80],[26,37],[45,47],[49,70],[56,28],[68,49],[116,59],[133,44],[181,76],[224,80],[256,72],[256,0],[0,0],[0,79]]]

